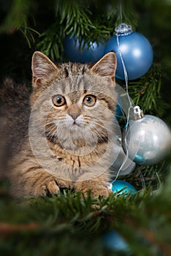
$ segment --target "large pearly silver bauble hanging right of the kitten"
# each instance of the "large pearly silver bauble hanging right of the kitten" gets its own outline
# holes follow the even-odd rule
[[[154,165],[161,161],[171,146],[171,132],[160,118],[145,115],[129,121],[123,133],[123,148],[139,165]]]

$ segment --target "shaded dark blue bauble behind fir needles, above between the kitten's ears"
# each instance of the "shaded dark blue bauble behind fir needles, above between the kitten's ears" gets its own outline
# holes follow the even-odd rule
[[[98,44],[91,42],[89,48],[87,44],[84,46],[83,44],[84,42],[82,41],[81,47],[79,48],[80,42],[76,36],[70,38],[70,35],[68,35],[65,37],[64,51],[69,61],[80,63],[96,62],[103,56],[104,45],[102,42]]]

